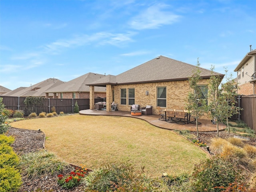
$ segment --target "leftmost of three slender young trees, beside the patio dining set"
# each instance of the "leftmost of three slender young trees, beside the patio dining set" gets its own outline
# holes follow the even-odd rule
[[[189,112],[192,112],[196,119],[196,132],[197,137],[199,138],[198,131],[198,118],[202,116],[207,111],[206,99],[202,98],[202,91],[198,83],[202,79],[200,70],[200,63],[197,59],[196,69],[193,70],[193,74],[188,78],[188,83],[193,92],[189,92],[186,98],[186,105]]]

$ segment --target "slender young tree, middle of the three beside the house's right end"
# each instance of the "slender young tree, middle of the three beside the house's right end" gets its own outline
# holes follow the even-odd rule
[[[217,137],[219,136],[219,122],[226,117],[226,98],[219,89],[222,78],[214,74],[214,66],[211,66],[211,77],[208,85],[208,107],[210,109],[210,116],[215,118],[217,126]]]

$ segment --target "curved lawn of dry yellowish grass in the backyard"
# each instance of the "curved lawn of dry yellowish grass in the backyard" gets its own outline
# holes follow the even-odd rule
[[[173,131],[143,120],[118,116],[67,115],[12,122],[14,128],[42,130],[46,150],[62,160],[95,169],[104,164],[129,162],[148,176],[163,172],[191,172],[208,158],[199,147]]]

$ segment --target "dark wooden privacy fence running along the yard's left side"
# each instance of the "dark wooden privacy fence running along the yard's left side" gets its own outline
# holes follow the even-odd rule
[[[56,99],[56,98],[43,98],[43,103],[41,106],[30,106],[26,107],[24,100],[26,97],[11,97],[11,96],[1,96],[3,98],[3,103],[5,108],[11,110],[23,110],[25,116],[30,113],[35,112],[39,114],[41,112],[50,113],[52,112],[52,107],[54,106],[57,113],[61,111],[64,113],[73,113],[74,106],[77,102],[79,110],[90,109],[90,99]],[[103,98],[96,98],[94,102],[101,102]]]

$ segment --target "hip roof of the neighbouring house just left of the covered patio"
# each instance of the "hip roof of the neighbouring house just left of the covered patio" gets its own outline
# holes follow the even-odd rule
[[[90,92],[90,86],[86,84],[90,84],[96,80],[102,79],[106,77],[102,74],[96,73],[87,73],[78,78],[65,82],[57,87],[49,89],[46,93],[60,93],[60,92]],[[103,87],[95,87],[94,92],[106,92],[106,88]]]

